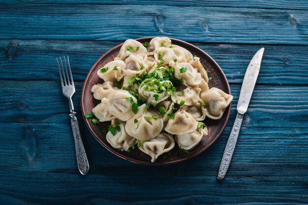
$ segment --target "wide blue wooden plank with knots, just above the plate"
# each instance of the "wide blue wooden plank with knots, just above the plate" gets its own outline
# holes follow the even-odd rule
[[[124,40],[166,35],[195,42],[308,45],[305,10],[2,4],[0,14],[1,39]]]

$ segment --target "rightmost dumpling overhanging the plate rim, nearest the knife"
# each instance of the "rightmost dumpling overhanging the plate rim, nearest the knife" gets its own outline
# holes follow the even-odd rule
[[[218,120],[226,107],[231,103],[233,96],[226,94],[218,88],[211,88],[210,90],[201,94],[201,99],[206,104],[206,116]]]

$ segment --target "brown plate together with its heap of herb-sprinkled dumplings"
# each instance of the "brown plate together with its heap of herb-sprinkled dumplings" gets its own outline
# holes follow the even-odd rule
[[[85,79],[81,110],[96,140],[134,163],[164,165],[201,154],[226,127],[233,97],[216,61],[168,37],[128,39]]]

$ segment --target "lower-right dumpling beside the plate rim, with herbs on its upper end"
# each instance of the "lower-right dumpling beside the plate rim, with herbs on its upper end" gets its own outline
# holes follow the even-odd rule
[[[195,148],[204,136],[208,135],[208,129],[206,127],[197,128],[197,130],[186,133],[186,134],[178,134],[175,137],[176,142],[179,147],[184,150],[191,150]]]

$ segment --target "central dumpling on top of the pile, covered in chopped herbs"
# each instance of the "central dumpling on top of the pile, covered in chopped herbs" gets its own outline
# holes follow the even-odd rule
[[[159,81],[157,79],[148,78],[140,84],[139,95],[152,104],[159,103],[167,99],[169,97],[168,94],[164,91],[158,90],[158,85],[160,84],[172,86],[172,83],[169,80]]]

